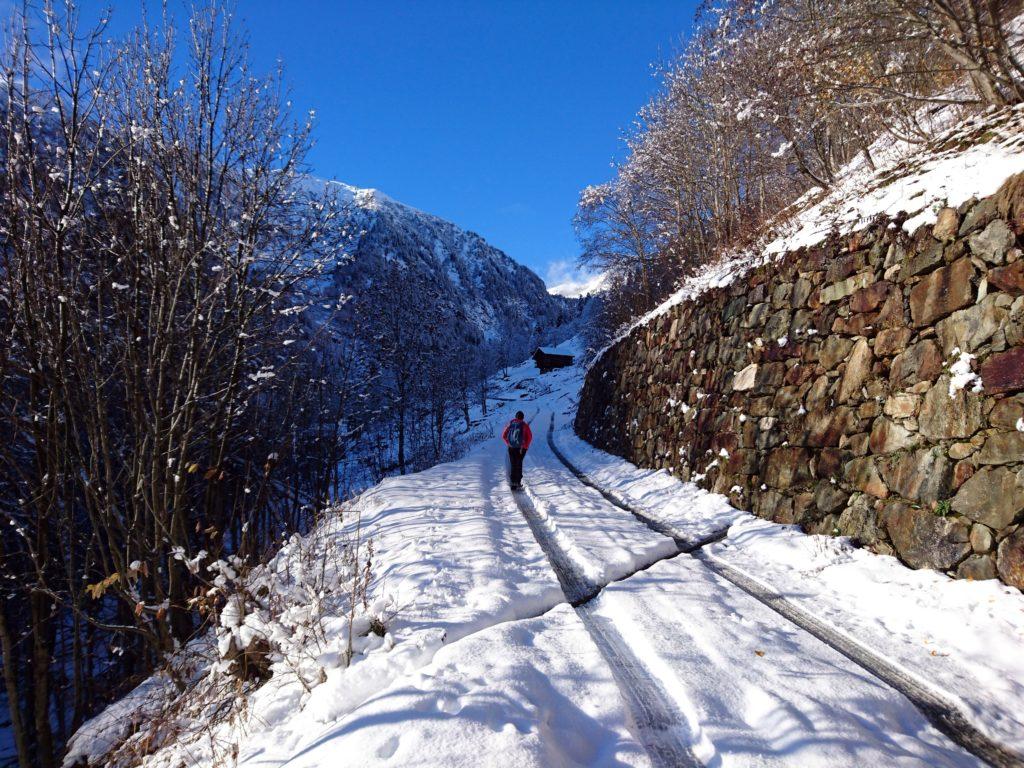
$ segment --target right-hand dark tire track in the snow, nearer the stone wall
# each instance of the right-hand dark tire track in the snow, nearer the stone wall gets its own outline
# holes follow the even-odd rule
[[[554,414],[548,427],[548,445],[565,468],[585,485],[594,488],[609,503],[623,509],[647,525],[651,530],[667,536],[676,542],[681,554],[691,554],[720,578],[745,592],[748,595],[771,608],[780,616],[812,635],[834,650],[842,653],[858,667],[874,676],[883,683],[901,693],[938,730],[958,746],[996,768],[1024,768],[1024,757],[1007,749],[978,729],[968,716],[953,701],[918,680],[907,671],[888,658],[876,653],[849,635],[808,613],[778,592],[757,581],[749,573],[733,565],[702,552],[708,544],[721,541],[728,529],[716,532],[706,539],[691,541],[679,535],[669,523],[658,520],[635,505],[621,499],[617,494],[603,488],[575,467],[554,440]]]

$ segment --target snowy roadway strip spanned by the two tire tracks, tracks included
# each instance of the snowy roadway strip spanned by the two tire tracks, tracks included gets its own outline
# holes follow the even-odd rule
[[[641,510],[631,505],[629,514],[607,490],[584,484],[552,447],[535,441],[517,502],[620,672],[635,735],[655,765],[982,764],[930,722],[955,712],[947,702],[905,675],[893,688],[898,670],[880,679],[864,657],[858,664],[834,647],[826,628],[812,634],[809,622],[780,614],[750,584],[738,587],[727,578],[734,568],[680,554],[695,543],[652,531],[636,519]],[[885,666],[869,654],[866,662]],[[963,717],[946,725],[985,762],[1015,764]]]

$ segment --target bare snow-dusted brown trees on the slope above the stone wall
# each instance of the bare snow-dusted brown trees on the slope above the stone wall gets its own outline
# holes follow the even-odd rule
[[[650,308],[854,161],[872,166],[880,140],[1019,102],[1020,14],[1019,0],[703,3],[629,157],[581,195],[581,261],[611,285],[599,325]]]

